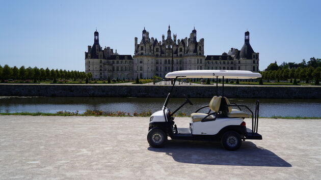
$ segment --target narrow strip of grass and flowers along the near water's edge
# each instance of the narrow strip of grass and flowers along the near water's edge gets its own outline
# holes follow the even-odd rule
[[[150,111],[141,113],[128,113],[128,112],[103,112],[103,111],[90,111],[87,110],[85,113],[69,112],[69,111],[58,111],[57,113],[45,113],[45,112],[0,112],[0,115],[33,115],[33,116],[117,116],[117,117],[149,117]],[[177,113],[176,117],[188,117],[185,113]],[[301,116],[272,116],[272,117],[260,117],[260,118],[275,118],[275,119],[321,119],[321,117],[301,117]]]

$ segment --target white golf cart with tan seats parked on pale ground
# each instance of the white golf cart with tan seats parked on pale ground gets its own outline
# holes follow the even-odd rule
[[[167,107],[171,92],[168,93],[162,110],[150,116],[147,134],[150,146],[162,147],[169,136],[171,139],[181,140],[221,141],[225,149],[235,151],[246,139],[262,139],[262,136],[257,133],[259,101],[256,101],[254,115],[247,106],[230,103],[224,97],[224,78],[255,79],[260,78],[261,74],[239,70],[186,70],[170,72],[165,77],[174,79],[171,92],[177,78],[216,78],[217,95],[211,99],[208,106],[201,107],[191,114],[189,128],[177,128],[173,115],[185,104],[193,105],[193,103],[184,95],[185,102],[171,112]],[[223,78],[222,96],[218,96],[218,78]],[[207,113],[199,113],[205,108],[208,108]],[[242,111],[242,108],[248,109],[251,114]],[[243,121],[244,118],[249,117],[252,117],[252,130],[246,128],[246,123]]]

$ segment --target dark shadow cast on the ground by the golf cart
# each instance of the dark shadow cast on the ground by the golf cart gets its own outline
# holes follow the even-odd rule
[[[162,148],[148,147],[149,151],[166,153],[180,163],[233,165],[233,166],[270,166],[292,167],[291,164],[253,142],[245,141],[234,152],[226,151],[221,143],[169,140]]]

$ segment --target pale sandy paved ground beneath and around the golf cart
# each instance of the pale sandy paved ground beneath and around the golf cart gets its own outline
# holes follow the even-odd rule
[[[178,127],[188,117],[176,118]],[[0,116],[1,179],[319,179],[321,119],[260,119],[263,140],[149,147],[143,117]],[[249,125],[249,124],[248,124]]]

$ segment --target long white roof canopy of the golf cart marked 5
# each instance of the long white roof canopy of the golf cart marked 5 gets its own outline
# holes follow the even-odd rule
[[[185,70],[167,73],[165,78],[229,78],[229,79],[255,79],[260,73],[240,70]]]

